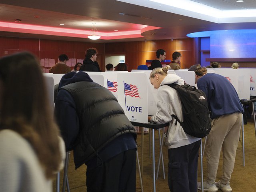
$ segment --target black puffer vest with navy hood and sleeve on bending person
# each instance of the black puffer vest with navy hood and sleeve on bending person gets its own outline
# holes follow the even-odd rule
[[[73,143],[76,168],[88,162],[104,146],[122,134],[132,133],[136,140],[136,131],[124,115],[116,97],[106,88],[92,82],[88,74],[68,73],[62,77],[59,87],[55,114],[57,120],[60,119],[58,123],[65,144]],[[64,114],[63,109],[73,110],[76,118],[61,117]],[[74,136],[74,132],[79,134]],[[72,135],[74,138],[70,140]]]

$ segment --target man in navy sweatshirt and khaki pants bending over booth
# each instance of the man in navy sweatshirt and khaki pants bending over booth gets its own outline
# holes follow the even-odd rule
[[[207,175],[204,190],[216,192],[220,188],[223,192],[231,192],[229,182],[234,169],[244,109],[234,86],[224,76],[207,74],[207,69],[200,65],[191,66],[189,71],[196,73],[198,89],[206,94],[212,119],[212,129],[206,143]],[[221,150],[223,175],[220,181],[215,182]],[[201,188],[201,183],[198,183],[198,189]]]

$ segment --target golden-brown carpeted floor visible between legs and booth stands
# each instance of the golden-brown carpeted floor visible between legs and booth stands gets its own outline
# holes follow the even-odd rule
[[[162,131],[161,131],[162,134]],[[149,134],[144,135],[144,167],[143,167],[143,187],[144,192],[153,191],[152,183],[152,157],[149,157]],[[142,141],[141,134],[138,134],[138,145],[141,146]],[[234,172],[230,181],[230,186],[233,189],[233,192],[255,192],[256,191],[256,139],[255,139],[255,130],[254,123],[248,122],[244,126],[244,143],[245,143],[245,166],[243,165],[242,158],[242,134],[241,140],[238,144],[238,149],[236,152],[236,162],[234,166]],[[203,140],[204,144],[204,140]],[[158,164],[159,157],[159,139],[158,131],[155,131],[155,157],[156,157],[156,168]],[[152,149],[152,148],[151,148]],[[164,170],[166,174],[166,179],[163,178],[162,166],[160,166],[158,180],[156,180],[156,191],[158,192],[168,192],[168,181],[167,181],[167,165],[168,165],[168,148],[163,146],[163,156],[164,156]],[[138,147],[138,154],[141,164],[141,147]],[[151,152],[150,152],[151,154]],[[206,159],[203,159],[203,173],[206,174]],[[69,170],[68,170],[68,180],[70,185],[71,192],[85,192],[86,191],[86,166],[74,169],[73,154],[70,156]],[[220,163],[217,173],[216,182],[220,180],[222,176],[222,154],[220,156]],[[63,172],[60,173],[60,191],[62,190],[62,178]],[[204,176],[205,179],[205,176]],[[201,170],[200,170],[200,158],[198,160],[198,181],[201,181]],[[56,185],[54,181],[53,190],[56,191]],[[137,183],[136,191],[140,192],[140,180],[137,171]],[[200,192],[200,190],[198,190]],[[221,190],[219,190],[220,192]]]

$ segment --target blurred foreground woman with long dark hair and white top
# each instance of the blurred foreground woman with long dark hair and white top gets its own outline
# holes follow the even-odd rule
[[[38,60],[0,58],[0,191],[52,191],[64,154]]]

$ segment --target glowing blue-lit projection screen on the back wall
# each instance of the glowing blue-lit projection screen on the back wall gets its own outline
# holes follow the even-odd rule
[[[256,32],[210,35],[210,58],[256,58]]]

